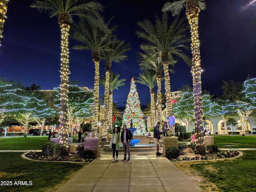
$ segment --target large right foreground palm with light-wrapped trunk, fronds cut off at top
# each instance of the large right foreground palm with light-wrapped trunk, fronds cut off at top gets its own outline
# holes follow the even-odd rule
[[[191,47],[192,47],[192,77],[194,92],[194,118],[196,134],[196,150],[201,155],[205,155],[203,115],[202,115],[202,84],[201,84],[201,59],[200,41],[198,35],[198,15],[200,10],[206,9],[204,0],[178,0],[166,2],[162,11],[170,11],[173,16],[179,15],[182,8],[186,7],[186,16],[191,27]]]

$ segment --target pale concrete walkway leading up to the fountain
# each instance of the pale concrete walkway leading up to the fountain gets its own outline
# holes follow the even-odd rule
[[[57,192],[202,192],[164,156],[131,154],[130,162],[101,154]]]

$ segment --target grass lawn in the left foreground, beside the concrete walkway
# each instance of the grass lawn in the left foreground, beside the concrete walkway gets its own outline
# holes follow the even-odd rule
[[[2,182],[0,183],[0,191],[54,192],[74,176],[77,170],[86,165],[61,162],[35,162],[23,159],[21,155],[22,153],[18,152],[0,153],[0,162],[2,162],[0,166],[0,182]],[[2,186],[5,184],[3,181],[12,181],[12,186]],[[28,185],[14,185],[18,181],[27,182]]]

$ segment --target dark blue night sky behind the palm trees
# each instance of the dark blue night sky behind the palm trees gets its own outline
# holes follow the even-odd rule
[[[21,81],[24,86],[33,83],[42,90],[53,89],[60,84],[60,27],[57,18],[49,18],[45,12],[30,8],[31,0],[9,0],[0,47],[0,76]],[[127,61],[112,63],[112,71],[126,79],[125,86],[114,90],[114,102],[126,104],[130,79],[140,73],[137,56],[140,40],[136,30],[138,21],[148,18],[155,22],[161,16],[165,1],[162,0],[101,0],[106,19],[115,16],[111,24],[117,24],[116,34],[131,44],[126,53]],[[207,8],[199,15],[202,89],[210,94],[221,94],[223,80],[243,82],[248,75],[256,76],[256,4],[249,0],[206,0]],[[185,12],[182,12],[185,16]],[[170,16],[170,20],[172,17]],[[82,86],[92,88],[94,63],[90,51],[73,50],[77,44],[69,38],[70,80],[79,80]],[[105,72],[105,62],[100,62],[100,76]],[[192,86],[190,68],[182,61],[170,74],[171,91],[183,84]],[[142,105],[150,100],[149,88],[136,84]],[[164,92],[164,83],[162,92]],[[104,89],[100,88],[100,94]]]

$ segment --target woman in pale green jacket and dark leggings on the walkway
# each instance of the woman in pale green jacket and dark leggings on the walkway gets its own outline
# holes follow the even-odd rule
[[[115,127],[113,132],[108,129],[108,132],[111,134],[111,139],[109,143],[109,148],[112,148],[113,151],[113,160],[112,162],[118,161],[118,150],[120,150],[119,142],[120,142],[120,132],[118,132],[118,128]],[[115,158],[116,153],[116,158]]]

